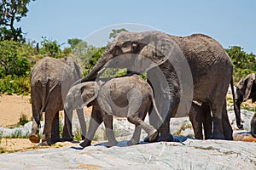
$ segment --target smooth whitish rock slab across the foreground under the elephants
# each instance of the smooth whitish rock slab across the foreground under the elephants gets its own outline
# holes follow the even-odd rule
[[[256,144],[187,139],[106,148],[55,148],[0,155],[0,169],[255,169]]]

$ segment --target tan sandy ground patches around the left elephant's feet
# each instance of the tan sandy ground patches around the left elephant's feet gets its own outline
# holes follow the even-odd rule
[[[29,99],[30,96],[0,94],[0,127],[16,127],[21,115],[26,115],[30,120],[32,117],[32,105]],[[69,142],[56,143],[52,147],[67,145],[74,144]],[[0,150],[1,148],[5,152],[11,152],[11,150],[34,150],[41,147],[38,147],[38,144],[32,144],[29,139],[1,139],[0,137]]]

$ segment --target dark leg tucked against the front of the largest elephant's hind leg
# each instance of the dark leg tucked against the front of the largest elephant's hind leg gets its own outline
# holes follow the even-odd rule
[[[209,105],[203,103],[201,105],[203,111],[203,126],[205,139],[210,139],[212,135],[212,115]]]

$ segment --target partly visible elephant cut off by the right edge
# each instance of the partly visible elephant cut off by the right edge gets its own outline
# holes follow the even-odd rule
[[[247,77],[241,78],[236,86],[235,104],[238,110],[238,118],[236,121],[241,121],[241,102],[245,102],[247,99],[252,99],[252,103],[256,101],[256,74],[252,73],[247,75]],[[252,120],[253,121],[253,120]],[[253,137],[255,134],[255,127],[252,128]]]

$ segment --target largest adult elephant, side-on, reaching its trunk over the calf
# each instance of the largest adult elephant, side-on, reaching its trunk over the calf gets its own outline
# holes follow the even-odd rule
[[[125,56],[136,54],[136,56],[143,56],[142,59],[147,58],[154,61],[154,65],[144,63],[143,69],[137,69],[137,71],[147,71],[148,81],[154,89],[156,104],[161,116],[165,118],[165,122],[159,128],[159,140],[172,141],[169,122],[171,117],[177,116],[180,100],[186,99],[186,97],[181,96],[181,86],[177,78],[177,72],[174,69],[177,60],[173,59],[179,59],[180,55],[172,53],[172,50],[177,48],[180,49],[181,54],[188,61],[193,77],[193,87],[188,87],[186,84],[182,84],[182,87],[193,90],[192,99],[201,103],[208,103],[212,111],[213,131],[211,139],[233,139],[225,105],[225,97],[230,82],[231,86],[233,85],[233,65],[224,48],[211,37],[202,34],[175,37],[160,31],[121,32],[113,39],[113,42],[109,43],[107,51],[97,61],[89,75],[84,77],[81,82],[95,80],[107,66],[121,63],[123,65],[120,67],[133,69],[129,67],[132,67],[131,65],[140,67],[140,63],[143,63],[137,57],[137,61],[133,61],[133,63],[131,61],[131,65],[129,65],[131,57],[125,58]],[[109,60],[121,55],[126,60],[115,61],[113,65],[105,65]],[[163,86],[162,81],[158,80],[157,69],[160,69],[166,77],[168,87]],[[190,102],[192,102],[192,99],[190,99]],[[151,115],[149,116],[150,124],[157,127],[156,117],[154,117],[154,114]]]

